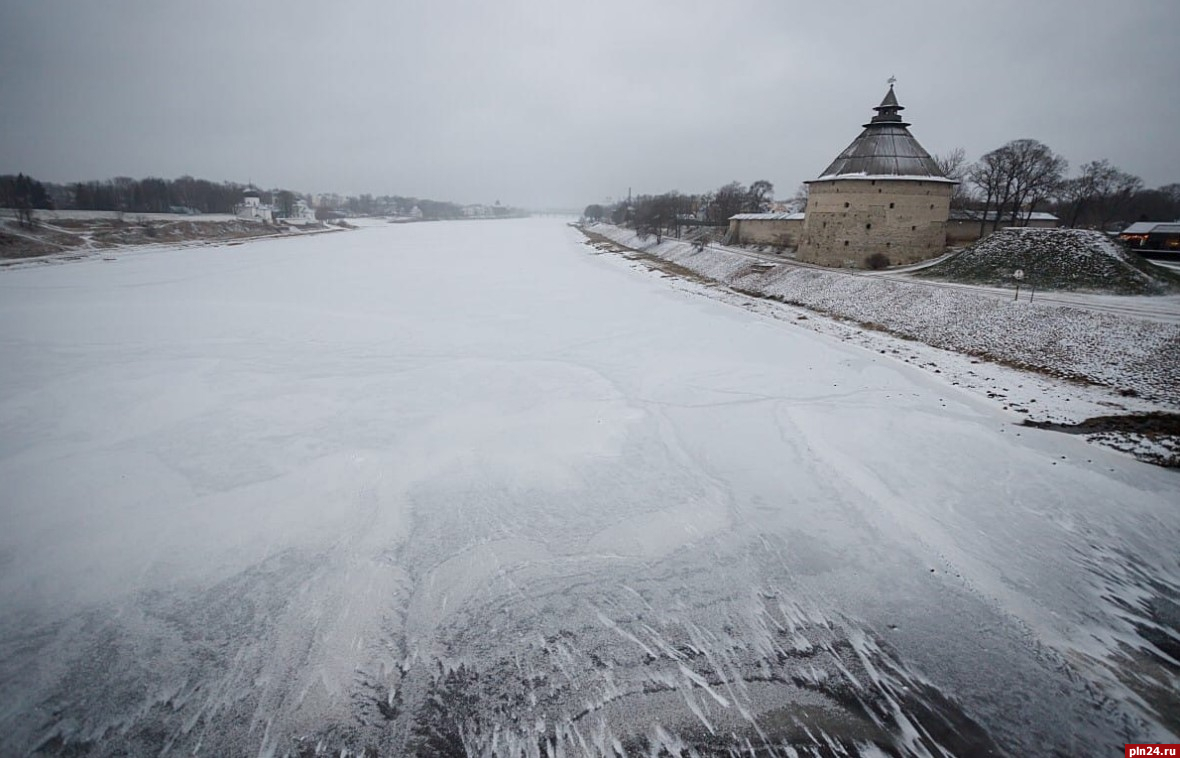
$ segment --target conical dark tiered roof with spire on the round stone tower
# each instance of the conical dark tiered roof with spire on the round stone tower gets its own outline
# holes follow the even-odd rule
[[[912,178],[950,182],[930,153],[910,133],[910,124],[902,120],[905,110],[893,94],[893,85],[881,104],[873,109],[877,116],[865,124],[844,152],[824,170],[820,179],[834,178]]]

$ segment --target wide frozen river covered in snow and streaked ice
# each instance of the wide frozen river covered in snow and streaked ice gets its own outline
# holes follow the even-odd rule
[[[0,272],[0,753],[1178,741],[1180,473],[592,253]]]

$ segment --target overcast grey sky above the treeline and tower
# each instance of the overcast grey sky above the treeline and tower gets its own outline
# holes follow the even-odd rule
[[[1178,31],[1178,0],[0,0],[0,174],[789,197],[892,74],[931,152],[1032,137],[1155,187],[1180,182]]]

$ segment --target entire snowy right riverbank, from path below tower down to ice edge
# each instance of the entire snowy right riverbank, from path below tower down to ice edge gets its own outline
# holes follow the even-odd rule
[[[922,366],[1024,423],[1180,465],[1180,298],[1042,293],[1014,302],[991,288],[656,243],[602,224],[584,231],[597,250],[678,275],[682,288]]]

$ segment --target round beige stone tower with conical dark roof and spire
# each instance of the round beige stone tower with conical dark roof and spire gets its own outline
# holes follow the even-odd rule
[[[892,84],[873,110],[877,116],[860,136],[818,179],[806,182],[802,261],[859,268],[881,253],[891,263],[914,263],[946,246],[957,182],[910,133]]]

